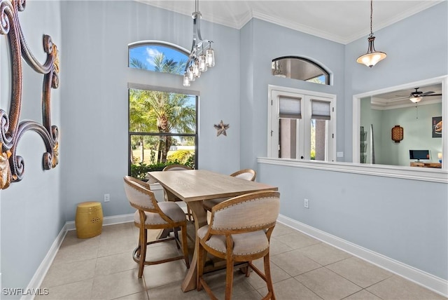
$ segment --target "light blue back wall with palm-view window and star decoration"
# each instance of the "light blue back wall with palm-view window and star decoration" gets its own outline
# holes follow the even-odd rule
[[[191,16],[136,1],[62,1],[64,89],[62,103],[62,194],[66,219],[76,205],[102,200],[105,216],[133,212],[123,190],[127,175],[127,83],[200,90],[199,168],[223,173],[239,169],[239,31],[202,22],[213,40],[216,67],[190,88],[181,76],[127,68],[128,43],[163,40],[189,49]],[[231,87],[231,88],[229,88]],[[216,137],[214,124],[230,124]]]

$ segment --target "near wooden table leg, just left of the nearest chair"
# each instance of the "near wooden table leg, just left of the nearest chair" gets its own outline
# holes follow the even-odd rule
[[[207,211],[202,207],[202,201],[191,201],[188,203],[193,212],[195,220],[195,230],[207,224]],[[185,279],[182,282],[183,292],[188,292],[196,288],[196,273],[197,273],[197,249],[199,248],[199,240],[195,239],[195,252],[193,252],[193,259],[190,261],[190,268]]]

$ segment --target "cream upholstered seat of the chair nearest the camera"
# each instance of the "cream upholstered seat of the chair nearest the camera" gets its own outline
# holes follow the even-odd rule
[[[204,238],[208,230],[209,225],[202,226],[197,230],[197,236],[201,239]],[[267,240],[264,230],[232,234],[232,239],[234,242],[234,255],[256,254],[269,248],[269,240]],[[213,235],[207,240],[206,244],[212,249],[225,254],[225,236]]]

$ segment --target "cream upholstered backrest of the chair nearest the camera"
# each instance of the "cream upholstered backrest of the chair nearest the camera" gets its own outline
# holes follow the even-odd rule
[[[215,205],[211,210],[212,230],[256,231],[275,223],[279,217],[280,193],[248,193]]]

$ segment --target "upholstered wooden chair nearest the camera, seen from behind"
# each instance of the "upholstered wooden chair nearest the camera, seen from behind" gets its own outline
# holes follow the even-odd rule
[[[211,209],[209,225],[197,230],[199,240],[197,259],[197,290],[204,287],[211,299],[217,299],[204,280],[204,261],[207,252],[226,260],[225,299],[232,297],[234,263],[248,261],[248,268],[265,280],[267,295],[275,299],[269,265],[269,240],[279,216],[280,193],[260,191],[230,198]],[[252,261],[263,257],[265,273]],[[249,269],[246,273],[248,275]]]

